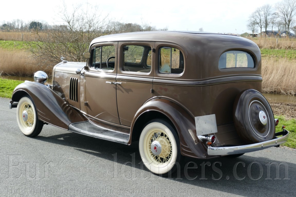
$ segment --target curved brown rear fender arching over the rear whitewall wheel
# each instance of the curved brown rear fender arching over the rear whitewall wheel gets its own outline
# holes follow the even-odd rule
[[[136,132],[134,127],[140,117],[152,111],[165,115],[173,123],[180,139],[182,155],[201,159],[206,158],[207,148],[197,138],[194,117],[183,107],[168,99],[152,99],[141,106],[133,119],[131,135]],[[129,143],[131,143],[131,139]]]

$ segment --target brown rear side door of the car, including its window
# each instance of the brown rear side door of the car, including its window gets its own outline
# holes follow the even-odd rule
[[[120,124],[131,126],[137,110],[153,97],[155,42],[119,42],[117,107]]]

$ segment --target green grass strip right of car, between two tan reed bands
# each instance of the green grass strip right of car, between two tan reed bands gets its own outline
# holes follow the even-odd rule
[[[284,50],[284,49],[260,49],[262,58],[287,58],[289,60],[296,59],[295,50]]]

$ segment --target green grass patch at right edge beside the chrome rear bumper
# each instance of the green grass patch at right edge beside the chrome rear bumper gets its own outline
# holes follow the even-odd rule
[[[285,125],[286,126],[285,129],[290,132],[288,141],[282,144],[281,146],[287,146],[289,148],[296,149],[296,120],[295,119],[286,120],[284,116],[275,116],[275,118],[279,119],[279,125],[276,126],[276,132],[281,131],[282,125]]]

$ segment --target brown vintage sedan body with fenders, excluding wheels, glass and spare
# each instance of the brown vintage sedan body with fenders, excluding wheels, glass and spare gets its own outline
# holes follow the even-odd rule
[[[125,46],[134,45],[151,48],[151,54],[136,62],[144,65],[144,69],[130,71],[132,64],[127,70],[123,54]],[[93,61],[93,50],[101,46],[114,46],[113,70],[92,66],[97,63]],[[172,49],[182,53],[184,59],[180,58],[180,62],[184,62],[180,63],[178,73],[173,73],[172,66],[170,73],[160,72],[162,47],[170,48],[170,56]],[[249,54],[253,67],[219,68],[221,55],[227,51]],[[139,140],[141,130],[150,120],[167,120],[176,129],[181,154],[195,158],[217,156],[209,155],[209,146],[198,137],[195,117],[215,114],[218,132],[206,135],[215,135],[210,147],[252,144],[239,136],[233,110],[241,92],[261,91],[261,54],[254,42],[214,33],[137,32],[96,38],[89,52],[91,57],[86,63],[57,64],[53,69],[52,88],[23,83],[15,89],[12,101],[18,102],[28,94],[42,122],[97,138],[101,137],[96,134],[96,127],[104,128],[125,138],[118,140],[105,133],[102,139],[128,145]],[[143,62],[148,58],[151,65],[147,67],[148,63]],[[108,60],[106,64],[108,67]],[[91,122],[92,127],[86,125],[85,130],[72,127],[79,122]],[[286,138],[287,135],[282,142]]]

